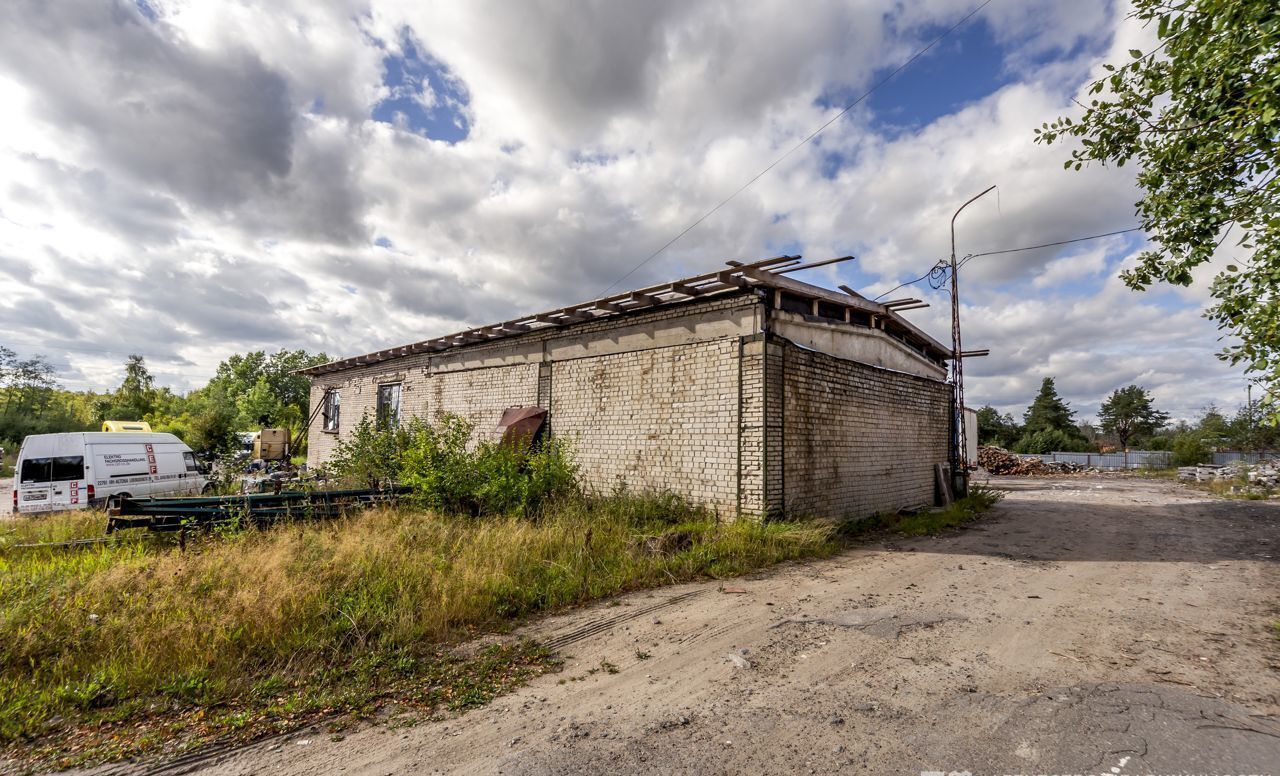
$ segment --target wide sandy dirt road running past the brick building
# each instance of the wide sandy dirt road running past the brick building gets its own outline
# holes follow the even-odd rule
[[[564,671],[477,712],[206,772],[1280,772],[1280,505],[996,483],[946,537],[544,620]]]

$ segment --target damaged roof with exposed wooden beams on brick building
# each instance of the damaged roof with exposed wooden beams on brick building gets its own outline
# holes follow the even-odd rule
[[[812,301],[814,303],[814,310],[818,309],[819,303],[826,303],[844,307],[850,312],[874,315],[883,321],[886,333],[902,341],[908,346],[919,350],[928,357],[938,361],[951,357],[950,348],[922,332],[897,312],[897,309],[916,309],[928,306],[920,303],[919,300],[874,302],[852,291],[847,286],[841,286],[841,291],[832,291],[786,277],[786,273],[835,264],[849,259],[852,259],[852,256],[841,256],[840,259],[828,259],[826,261],[814,261],[810,264],[801,264],[800,256],[777,256],[751,264],[728,261],[728,269],[694,275],[691,278],[682,278],[680,280],[669,280],[648,288],[628,291],[626,293],[607,296],[588,302],[579,302],[566,307],[557,307],[556,310],[536,312],[534,315],[504,320],[502,323],[489,324],[485,327],[465,329],[453,334],[424,339],[411,344],[390,347],[372,353],[365,353],[362,356],[339,359],[328,364],[300,369],[298,374],[319,375],[333,371],[343,371],[356,366],[379,364],[381,361],[389,361],[403,356],[435,353],[458,347],[468,347],[507,337],[517,337],[530,332],[541,332],[591,320],[625,316],[632,312],[649,311],[664,305],[687,302],[690,300],[704,300],[753,288],[776,292],[776,295],[778,295],[774,297],[776,306],[782,306],[778,303],[778,300],[781,298],[781,295],[786,295],[790,298],[799,297],[801,300]]]

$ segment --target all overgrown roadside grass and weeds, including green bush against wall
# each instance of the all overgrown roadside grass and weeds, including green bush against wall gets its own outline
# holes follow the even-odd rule
[[[333,469],[365,485],[408,484],[412,503],[227,526],[183,552],[154,537],[15,549],[100,535],[102,516],[15,522],[0,535],[0,747],[68,766],[362,715],[387,698],[463,709],[556,666],[527,642],[457,653],[479,634],[841,546],[828,522],[723,522],[669,493],[584,493],[558,443],[474,443],[471,430],[453,417],[392,429],[366,420]],[[849,533],[936,533],[997,498],[975,488],[950,510]]]

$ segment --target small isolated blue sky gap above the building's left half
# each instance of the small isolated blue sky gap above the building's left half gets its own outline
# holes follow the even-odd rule
[[[383,85],[390,96],[374,106],[374,120],[448,143],[467,138],[471,123],[466,108],[471,96],[466,85],[419,49],[408,31],[402,35],[399,54],[383,58]]]

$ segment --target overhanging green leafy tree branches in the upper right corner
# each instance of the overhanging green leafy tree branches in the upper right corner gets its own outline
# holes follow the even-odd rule
[[[1061,118],[1038,142],[1079,137],[1064,169],[1091,161],[1138,166],[1138,218],[1156,251],[1125,283],[1189,284],[1212,259],[1224,225],[1248,255],[1215,275],[1206,316],[1231,338],[1224,359],[1245,364],[1275,396],[1280,419],[1280,17],[1276,0],[1135,0],[1135,18],[1157,22],[1161,56],[1130,49],[1088,85],[1084,115]],[[1166,129],[1167,128],[1167,129]]]

